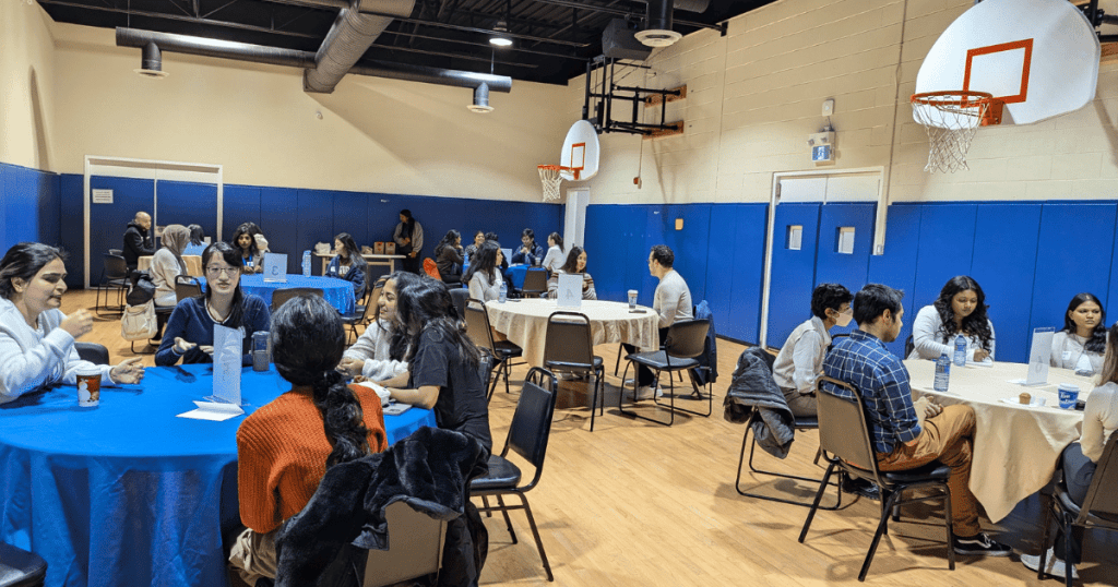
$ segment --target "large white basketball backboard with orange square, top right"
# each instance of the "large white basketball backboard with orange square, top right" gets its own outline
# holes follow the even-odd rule
[[[1005,103],[1002,124],[1031,124],[1093,100],[1099,57],[1095,29],[1068,0],[984,0],[936,40],[916,93],[987,92]]]

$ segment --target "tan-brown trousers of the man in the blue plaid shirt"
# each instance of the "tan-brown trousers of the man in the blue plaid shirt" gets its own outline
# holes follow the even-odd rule
[[[932,461],[951,467],[947,491],[951,494],[951,530],[968,538],[979,532],[978,503],[970,493],[970,453],[975,413],[968,406],[947,406],[923,423],[923,433],[912,446],[898,444],[891,453],[878,453],[881,471],[907,471]]]

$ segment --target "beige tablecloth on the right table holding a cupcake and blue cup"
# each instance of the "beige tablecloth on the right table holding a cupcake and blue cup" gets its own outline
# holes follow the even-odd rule
[[[1049,370],[1048,385],[1024,387],[1008,382],[1024,379],[1027,364],[995,362],[993,367],[951,366],[947,392],[932,389],[936,363],[927,360],[904,361],[911,377],[913,399],[929,396],[941,405],[964,404],[975,410],[976,432],[974,463],[970,468],[970,491],[998,521],[1021,500],[1043,487],[1055,471],[1060,453],[1079,439],[1083,413],[1060,409],[1059,384],[1079,386],[1079,398],[1086,399],[1095,384],[1068,369]],[[1045,407],[1006,404],[1017,401],[1022,391],[1033,398],[1043,397]]]

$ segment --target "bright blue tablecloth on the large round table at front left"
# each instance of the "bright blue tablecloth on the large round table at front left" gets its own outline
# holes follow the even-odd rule
[[[239,521],[245,417],[174,417],[211,394],[212,367],[149,368],[94,408],[72,386],[0,405],[0,540],[42,557],[50,587],[228,585],[221,530]],[[246,414],[291,389],[250,368],[240,386]],[[411,408],[385,425],[395,443],[435,416]]]

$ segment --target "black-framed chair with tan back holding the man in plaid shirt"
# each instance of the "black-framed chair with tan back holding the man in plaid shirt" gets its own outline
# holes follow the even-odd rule
[[[845,389],[850,398],[839,397],[825,387],[827,384],[836,388]],[[807,538],[807,530],[812,526],[812,519],[819,506],[819,500],[827,489],[831,474],[839,468],[846,475],[856,479],[865,479],[877,483],[881,487],[881,521],[878,522],[878,531],[870,542],[870,550],[865,553],[862,562],[862,570],[858,575],[858,580],[864,581],[865,575],[870,571],[870,564],[873,562],[873,555],[878,550],[882,534],[888,532],[890,513],[898,511],[906,503],[922,502],[929,500],[944,500],[944,529],[947,532],[947,561],[948,567],[955,570],[955,548],[951,536],[951,494],[947,489],[947,481],[951,475],[951,470],[947,465],[932,462],[928,465],[908,471],[881,472],[878,468],[878,457],[873,449],[873,441],[870,438],[870,427],[866,422],[865,407],[862,405],[862,397],[854,386],[832,379],[819,377],[816,382],[816,403],[819,414],[819,449],[823,457],[828,463],[819,490],[815,493],[815,502],[807,512],[807,520],[804,521],[804,529],[799,532],[799,541]],[[904,493],[910,493],[918,489],[938,490],[931,494],[910,495],[902,499]],[[898,518],[899,520],[899,518]]]

